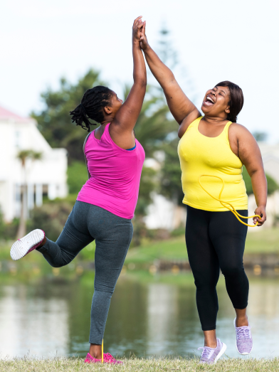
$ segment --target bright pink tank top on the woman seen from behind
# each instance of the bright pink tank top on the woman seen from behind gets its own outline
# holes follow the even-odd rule
[[[130,219],[137,206],[144,149],[137,139],[135,149],[121,149],[112,141],[109,127],[107,124],[100,139],[95,138],[95,131],[88,137],[85,156],[91,177],[77,200]]]

